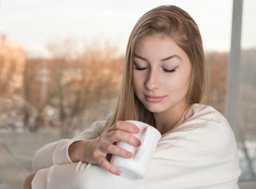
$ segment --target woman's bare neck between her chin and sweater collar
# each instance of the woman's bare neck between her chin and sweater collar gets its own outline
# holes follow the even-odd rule
[[[156,129],[163,135],[170,131],[180,121],[183,113],[188,109],[187,104],[176,104],[164,112],[153,113]]]

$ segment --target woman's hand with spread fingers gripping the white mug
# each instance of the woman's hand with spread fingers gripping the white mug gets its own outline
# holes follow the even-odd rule
[[[133,154],[127,150],[124,150],[115,144],[118,141],[129,143],[133,146],[139,146],[140,141],[131,133],[138,133],[139,128],[131,123],[118,121],[108,130],[103,132],[98,138],[89,140],[83,140],[87,143],[86,150],[84,151],[84,158],[90,164],[99,164],[113,174],[120,174],[120,170],[114,167],[106,158],[107,154],[113,154],[124,158],[131,158]],[[85,148],[84,148],[85,149]]]

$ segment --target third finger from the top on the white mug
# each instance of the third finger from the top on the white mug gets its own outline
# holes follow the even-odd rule
[[[107,154],[113,154],[116,156],[121,156],[123,158],[131,158],[133,156],[133,154],[131,152],[129,152],[125,149],[122,149],[121,147],[113,145],[113,144],[105,143],[100,146],[100,150]]]

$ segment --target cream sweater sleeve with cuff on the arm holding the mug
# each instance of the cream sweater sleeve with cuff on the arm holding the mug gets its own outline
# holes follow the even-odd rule
[[[110,116],[111,115],[112,114],[110,114]],[[75,141],[91,140],[99,137],[110,119],[110,116],[108,116],[106,120],[94,122],[88,129],[77,134],[72,139],[61,139],[42,146],[35,153],[33,170],[38,171],[41,168],[47,168],[55,164],[73,163],[68,156],[68,147]]]

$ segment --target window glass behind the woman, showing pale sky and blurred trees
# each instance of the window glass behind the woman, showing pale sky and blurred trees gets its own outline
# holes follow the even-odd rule
[[[210,105],[225,114],[233,1],[171,3],[199,25],[212,73]],[[163,4],[170,1],[0,2],[0,188],[23,186],[41,146],[72,138],[111,113],[130,31],[145,11]],[[240,188],[256,179],[255,7],[243,1],[235,127]]]

